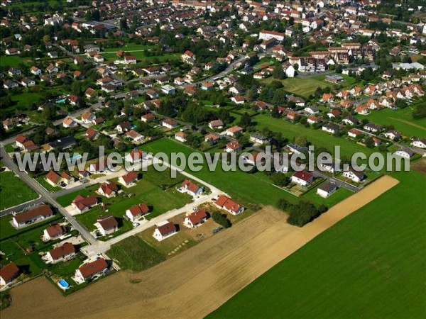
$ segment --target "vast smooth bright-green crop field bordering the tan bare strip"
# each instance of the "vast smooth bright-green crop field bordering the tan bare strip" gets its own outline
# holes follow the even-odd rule
[[[208,318],[425,318],[426,178],[400,184],[302,247]]]

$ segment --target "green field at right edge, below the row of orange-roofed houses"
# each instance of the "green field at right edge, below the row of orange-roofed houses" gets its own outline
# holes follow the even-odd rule
[[[357,116],[359,119],[368,118],[368,121],[379,125],[393,125],[395,130],[400,131],[404,136],[425,138],[426,137],[426,118],[415,120],[411,116],[413,107],[397,110],[384,108],[381,111],[372,111],[368,116]]]

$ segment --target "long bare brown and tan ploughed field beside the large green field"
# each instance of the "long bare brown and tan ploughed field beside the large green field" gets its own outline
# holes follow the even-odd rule
[[[381,177],[303,228],[288,225],[284,213],[263,208],[145,272],[118,272],[66,298],[44,277],[35,279],[11,291],[12,306],[1,318],[202,318],[396,184]]]

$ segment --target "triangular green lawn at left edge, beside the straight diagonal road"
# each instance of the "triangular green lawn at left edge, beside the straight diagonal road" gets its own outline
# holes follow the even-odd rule
[[[35,198],[38,198],[38,194],[15,177],[13,172],[0,173],[0,211]]]

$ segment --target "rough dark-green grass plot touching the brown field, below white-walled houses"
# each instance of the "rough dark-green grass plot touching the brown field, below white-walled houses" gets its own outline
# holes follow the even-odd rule
[[[121,269],[132,272],[141,272],[165,260],[163,254],[138,236],[128,237],[112,245],[107,255],[116,260]]]

